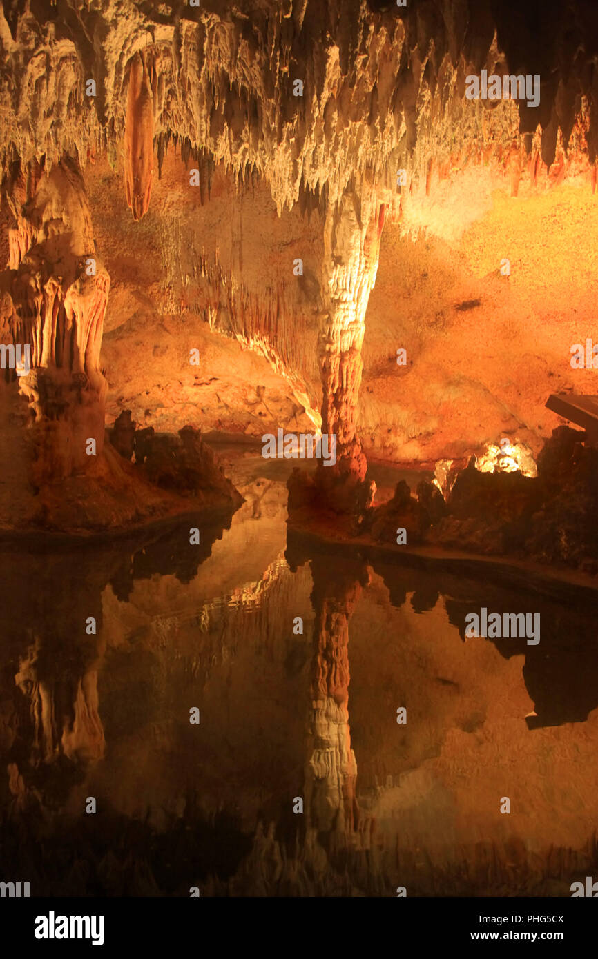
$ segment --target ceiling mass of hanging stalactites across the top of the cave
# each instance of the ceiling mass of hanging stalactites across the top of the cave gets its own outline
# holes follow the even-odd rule
[[[57,4],[41,21],[17,6],[0,14],[4,169],[42,153],[54,162],[77,152],[84,163],[124,136],[139,216],[153,140],[166,149],[172,134],[236,173],[265,175],[281,209],[305,186],[340,199],[355,175],[395,191],[397,167],[425,176],[431,157],[443,162],[460,142],[507,144],[538,126],[550,166],[584,102],[594,161],[597,91],[587,66],[598,20],[587,4],[538,5],[527,16],[490,0],[211,6],[174,0],[169,14],[101,0],[93,12]],[[105,39],[92,46],[99,23]],[[482,69],[540,77],[538,107],[514,109],[518,129],[513,103],[465,100],[466,76]]]

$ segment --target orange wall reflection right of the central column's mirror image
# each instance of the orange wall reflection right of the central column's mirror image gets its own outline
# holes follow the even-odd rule
[[[595,819],[592,773],[575,759],[578,747],[591,752],[598,715],[598,684],[588,652],[592,607],[579,596],[577,608],[564,612],[561,607],[557,615],[556,604],[533,594],[517,598],[461,578],[401,573],[377,563],[374,568],[400,609],[389,616],[381,601],[386,591],[374,577],[368,599],[351,620],[357,795],[379,833],[390,836],[399,829],[399,861],[413,883],[410,893],[423,888],[429,862],[436,873],[434,894],[450,895],[448,889],[459,881],[455,845],[464,842],[469,875],[479,866],[480,888],[489,892],[499,886],[501,872],[510,888],[517,882],[509,877],[505,858],[513,864],[512,876],[529,870],[530,877],[556,877],[559,856],[546,867],[553,844],[578,851],[586,842],[591,845]],[[437,591],[447,594],[440,603]],[[521,608],[541,611],[538,647],[516,641],[463,643],[459,632],[466,612],[483,604],[504,609],[509,602],[510,609],[518,609],[519,602]],[[423,616],[422,609],[428,611]],[[457,620],[459,629],[451,629],[448,623]],[[571,683],[573,673],[578,679]],[[580,676],[585,676],[583,705]],[[376,690],[375,720],[371,689]],[[406,726],[395,723],[398,706],[407,709]],[[533,711],[538,716],[526,719]],[[582,726],[581,720],[586,720]],[[512,799],[511,816],[498,813],[498,798],[504,795]],[[492,858],[495,866],[489,865]],[[418,861],[419,880],[410,875]],[[566,856],[562,864],[566,877]],[[548,889],[549,883],[544,894],[555,894]],[[567,890],[564,886],[561,894]]]

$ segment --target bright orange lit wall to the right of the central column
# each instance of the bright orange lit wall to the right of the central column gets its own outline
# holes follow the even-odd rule
[[[382,235],[358,415],[369,458],[433,464],[502,436],[537,455],[561,422],[548,395],[595,392],[595,370],[570,365],[595,329],[595,196],[578,180],[514,199],[474,173],[431,198],[425,233]]]

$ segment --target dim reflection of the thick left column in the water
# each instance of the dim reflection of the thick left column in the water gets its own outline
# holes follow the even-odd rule
[[[106,652],[101,593],[117,564],[102,550],[74,557],[34,552],[12,568],[3,553],[2,563],[11,620],[6,655],[12,676],[5,673],[3,685],[11,703],[7,758],[12,779],[22,786],[19,802],[53,807],[57,794],[68,797],[105,755],[98,692]],[[32,577],[36,590],[28,595]]]

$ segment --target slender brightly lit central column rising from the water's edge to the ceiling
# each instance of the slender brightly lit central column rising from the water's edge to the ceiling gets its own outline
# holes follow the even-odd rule
[[[378,269],[384,206],[372,191],[347,190],[327,210],[324,225],[320,364],[322,432],[336,436],[335,466],[319,467],[319,484],[339,511],[355,504],[367,462],[356,431],[366,310]],[[358,494],[357,494],[358,495]],[[364,494],[365,495],[365,494]],[[358,497],[359,499],[359,497]]]

